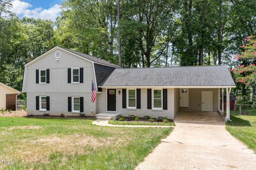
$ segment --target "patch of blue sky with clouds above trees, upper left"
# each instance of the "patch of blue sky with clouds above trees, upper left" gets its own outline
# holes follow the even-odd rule
[[[13,0],[11,11],[19,18],[27,16],[35,19],[55,21],[60,15],[60,4],[63,0]]]

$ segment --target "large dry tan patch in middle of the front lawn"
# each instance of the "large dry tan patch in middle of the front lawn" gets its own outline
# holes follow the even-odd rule
[[[18,159],[26,160],[26,162],[46,163],[49,162],[49,156],[52,153],[63,155],[89,154],[97,148],[118,145],[118,143],[122,143],[122,141],[116,138],[94,138],[79,134],[65,137],[49,135],[35,140],[23,140],[15,149],[16,153],[13,154],[19,155]]]

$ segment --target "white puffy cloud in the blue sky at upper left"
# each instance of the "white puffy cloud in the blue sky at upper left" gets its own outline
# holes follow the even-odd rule
[[[14,0],[12,5],[13,7],[11,11],[21,17],[27,16],[28,18],[40,18],[55,21],[56,17],[59,16],[61,12],[59,4],[55,4],[49,9],[43,9],[41,7],[29,9],[32,7],[31,4],[19,0]]]

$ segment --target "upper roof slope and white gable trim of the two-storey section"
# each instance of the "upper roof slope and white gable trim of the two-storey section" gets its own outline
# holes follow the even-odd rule
[[[108,66],[111,66],[111,67],[115,67],[115,68],[121,68],[119,67],[118,65],[115,65],[113,63],[110,63],[106,60],[103,60],[103,59],[100,59],[100,58],[97,58],[97,57],[94,57],[94,56],[91,56],[91,55],[87,55],[87,54],[83,54],[83,53],[79,53],[79,52],[76,52],[74,50],[71,50],[71,49],[67,49],[67,48],[63,48],[63,47],[59,47],[59,46],[55,46],[49,50],[47,50],[47,52],[45,52],[44,54],[42,54],[41,56],[38,56],[36,58],[34,58],[33,60],[31,60],[30,62],[26,63],[25,66],[39,60],[40,58],[44,57],[46,54],[49,54],[51,53],[53,50],[57,49],[57,48],[60,48],[62,50],[65,50],[66,52],[68,53],[73,53],[74,55],[76,56],[79,56],[79,57],[82,57],[84,58],[85,60],[89,60],[91,62],[94,62],[94,63],[98,63],[98,64],[102,64],[102,65],[108,65]]]

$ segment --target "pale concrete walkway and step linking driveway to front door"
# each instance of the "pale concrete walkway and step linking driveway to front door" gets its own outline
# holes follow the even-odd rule
[[[92,122],[94,125],[98,126],[109,126],[109,127],[125,127],[125,128],[173,128],[174,126],[158,126],[158,125],[116,125],[109,124],[105,120],[95,120]]]

